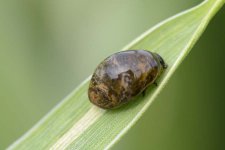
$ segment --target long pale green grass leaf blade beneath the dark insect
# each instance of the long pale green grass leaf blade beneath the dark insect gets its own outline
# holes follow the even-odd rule
[[[206,0],[171,17],[138,37],[126,49],[160,54],[168,69],[158,86],[116,110],[93,106],[87,96],[89,79],[66,97],[9,149],[108,149],[124,135],[156,99],[178,65],[187,56],[224,0]]]

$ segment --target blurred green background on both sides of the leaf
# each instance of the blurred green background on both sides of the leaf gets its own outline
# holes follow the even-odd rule
[[[0,149],[106,56],[201,0],[1,0]],[[113,149],[225,149],[225,9]]]

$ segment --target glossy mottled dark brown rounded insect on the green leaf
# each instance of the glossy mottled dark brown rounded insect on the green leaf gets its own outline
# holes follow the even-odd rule
[[[130,101],[152,84],[166,68],[161,56],[145,50],[115,53],[96,68],[90,82],[90,101],[112,109]]]

